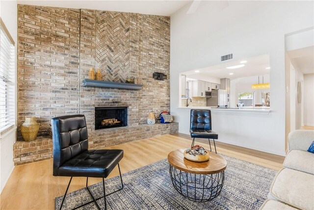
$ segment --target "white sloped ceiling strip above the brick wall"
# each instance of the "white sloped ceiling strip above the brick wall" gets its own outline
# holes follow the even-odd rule
[[[18,0],[19,4],[170,16],[192,0]]]

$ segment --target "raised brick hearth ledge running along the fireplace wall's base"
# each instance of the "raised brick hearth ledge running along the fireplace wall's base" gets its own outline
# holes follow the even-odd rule
[[[89,149],[101,149],[139,139],[178,133],[179,123],[156,123],[95,130],[88,133]],[[38,137],[35,141],[18,141],[13,147],[14,164],[22,165],[52,158],[52,139]]]

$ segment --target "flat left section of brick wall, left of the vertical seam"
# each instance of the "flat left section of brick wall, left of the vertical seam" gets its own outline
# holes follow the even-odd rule
[[[18,6],[18,125],[79,113],[79,10]],[[21,140],[20,130],[18,132]]]

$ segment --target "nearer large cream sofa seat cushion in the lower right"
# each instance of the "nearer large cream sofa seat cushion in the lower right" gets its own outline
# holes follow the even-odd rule
[[[269,199],[302,210],[314,210],[314,175],[283,168],[273,180]]]

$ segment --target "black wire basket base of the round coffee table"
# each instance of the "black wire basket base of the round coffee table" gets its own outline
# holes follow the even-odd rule
[[[207,202],[216,198],[224,185],[225,172],[217,174],[191,174],[170,165],[170,177],[174,188],[194,202]]]

